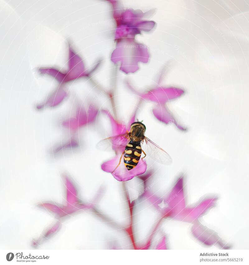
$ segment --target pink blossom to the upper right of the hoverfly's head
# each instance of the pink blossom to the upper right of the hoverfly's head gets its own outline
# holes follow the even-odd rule
[[[181,125],[178,124],[171,111],[167,107],[167,102],[172,99],[180,97],[184,91],[181,88],[176,88],[173,86],[162,86],[162,76],[161,72],[156,86],[149,89],[148,92],[137,91],[129,82],[127,82],[128,88],[136,95],[140,96],[143,100],[149,100],[155,102],[156,105],[153,107],[153,114],[157,118],[166,124],[173,123],[180,130],[185,130]]]

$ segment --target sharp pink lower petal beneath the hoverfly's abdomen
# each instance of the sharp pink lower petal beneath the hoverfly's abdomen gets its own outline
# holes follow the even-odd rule
[[[120,156],[121,154],[103,163],[101,165],[101,169],[106,172],[113,172],[115,167],[119,164]],[[127,170],[125,164],[121,159],[120,165],[117,167],[117,169],[115,169],[115,172],[112,173],[112,175],[118,181],[127,181],[133,179],[135,176],[143,174],[146,171],[146,169],[147,169],[146,162],[140,159],[138,165],[134,169]]]

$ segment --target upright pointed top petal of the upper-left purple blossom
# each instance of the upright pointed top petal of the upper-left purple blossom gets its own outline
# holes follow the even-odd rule
[[[85,76],[85,66],[80,56],[78,56],[69,45],[68,59],[68,76],[70,79],[76,79],[80,76]]]

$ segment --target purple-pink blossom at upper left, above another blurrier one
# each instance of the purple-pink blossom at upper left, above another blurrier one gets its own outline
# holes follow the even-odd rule
[[[53,91],[44,103],[37,105],[37,109],[44,108],[45,106],[54,107],[63,101],[68,94],[68,89],[65,87],[65,83],[76,80],[80,77],[89,77],[93,71],[99,66],[98,61],[92,69],[85,67],[82,58],[73,51],[72,46],[68,43],[68,70],[62,71],[61,69],[53,67],[40,67],[38,71],[43,75],[49,75],[55,78],[59,82],[59,87]]]

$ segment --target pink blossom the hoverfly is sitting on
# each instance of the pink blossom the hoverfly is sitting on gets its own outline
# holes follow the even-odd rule
[[[135,121],[135,115],[133,115],[127,125],[117,123],[115,119],[110,115],[109,112],[105,111],[107,116],[110,118],[111,128],[112,128],[112,136],[120,135],[129,131],[130,125]],[[110,172],[115,179],[118,181],[127,181],[133,179],[135,176],[143,174],[147,169],[147,164],[142,159],[139,160],[138,165],[131,170],[127,170],[124,163],[120,163],[117,169],[116,166],[119,164],[121,154],[125,150],[125,146],[127,145],[127,141],[119,141],[113,145],[113,150],[115,151],[115,157],[104,162],[101,165],[101,169],[105,172]],[[123,161],[121,161],[123,162]],[[115,171],[114,171],[115,169]],[[114,172],[113,172],[114,171]]]

